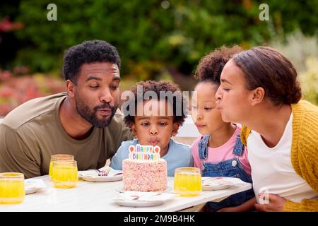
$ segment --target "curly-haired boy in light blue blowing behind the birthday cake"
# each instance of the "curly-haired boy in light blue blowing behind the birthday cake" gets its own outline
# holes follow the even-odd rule
[[[138,97],[141,94],[137,92],[140,91],[139,88],[142,88],[142,98]],[[137,138],[122,142],[112,157],[110,167],[122,169],[122,160],[129,155],[129,145],[138,143],[160,147],[160,157],[167,161],[168,177],[174,176],[177,167],[192,167],[193,158],[189,145],[171,139],[187,116],[183,106],[185,100],[179,87],[167,81],[142,81],[136,83],[131,92],[134,97],[126,103],[129,108],[134,107],[136,110],[124,111],[124,121]],[[145,94],[152,98],[146,99]],[[162,97],[162,94],[165,96]],[[167,95],[171,95],[172,98]]]

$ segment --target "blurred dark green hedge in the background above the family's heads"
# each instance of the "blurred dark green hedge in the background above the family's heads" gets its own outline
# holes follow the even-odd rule
[[[202,56],[223,44],[247,48],[296,28],[313,35],[318,27],[315,0],[265,1],[269,21],[259,20],[261,0],[171,0],[168,8],[155,0],[56,0],[57,21],[48,21],[50,3],[20,1],[17,20],[25,28],[16,35],[25,45],[16,64],[33,71],[61,69],[65,49],[100,39],[117,47],[124,75],[146,61],[191,74]],[[146,71],[140,78],[153,78],[162,71]]]

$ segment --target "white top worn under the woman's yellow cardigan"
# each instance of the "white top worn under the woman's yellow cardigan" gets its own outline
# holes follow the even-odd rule
[[[256,131],[249,134],[247,149],[255,196],[265,191],[298,203],[303,198],[318,198],[318,194],[293,168],[290,157],[292,139],[293,113],[281,140],[273,148],[269,148]],[[257,202],[262,201],[257,198]]]

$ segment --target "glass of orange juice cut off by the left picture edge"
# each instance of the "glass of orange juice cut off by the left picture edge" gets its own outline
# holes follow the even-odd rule
[[[19,172],[0,173],[0,204],[22,203],[24,196],[23,174]]]

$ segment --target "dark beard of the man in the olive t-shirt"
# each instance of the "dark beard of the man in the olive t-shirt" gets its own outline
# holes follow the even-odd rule
[[[85,103],[82,100],[79,100],[78,98],[75,98],[75,100],[76,100],[76,111],[78,112],[78,114],[80,114],[81,117],[83,117],[83,119],[88,121],[90,124],[98,128],[105,128],[106,126],[110,124],[118,107],[118,105],[113,106],[113,105],[110,105],[110,103],[105,102],[104,104],[100,106],[94,107],[93,111],[91,111],[90,108],[87,105],[85,105]],[[110,114],[110,116],[106,119],[105,118],[98,119],[97,117],[98,109],[105,109],[105,108],[110,109],[112,114]]]

